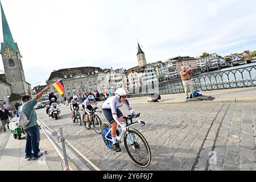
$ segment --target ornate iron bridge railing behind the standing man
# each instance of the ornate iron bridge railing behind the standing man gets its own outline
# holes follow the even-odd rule
[[[193,76],[191,77],[191,84],[193,86],[193,90],[197,92],[256,86],[256,65],[238,69],[234,68],[229,71]],[[158,88],[152,89],[152,86],[150,85],[147,85],[146,87],[151,88],[149,92],[142,92],[142,90],[145,89],[142,89],[141,86],[140,88],[129,88],[129,91],[132,91],[130,92],[131,97],[147,96],[147,94],[151,92],[157,92],[159,94],[184,93],[184,88],[180,78],[159,82]]]

